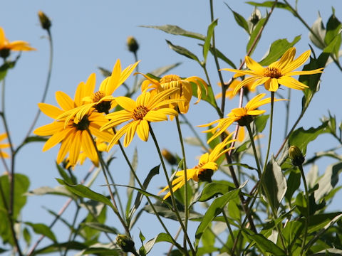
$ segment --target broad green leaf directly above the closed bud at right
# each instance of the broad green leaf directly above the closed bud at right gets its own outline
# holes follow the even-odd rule
[[[304,129],[303,127],[296,129],[291,133],[289,137],[289,144],[291,146],[298,146],[301,149],[303,155],[306,154],[306,146],[309,142],[314,141],[318,135],[326,133],[326,126],[328,122],[324,122],[319,127],[311,127],[310,129]]]

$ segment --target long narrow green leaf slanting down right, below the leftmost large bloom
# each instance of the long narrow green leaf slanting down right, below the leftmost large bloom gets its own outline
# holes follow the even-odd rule
[[[96,193],[95,191],[92,191],[90,188],[83,186],[83,185],[71,185],[69,183],[66,183],[66,181],[63,181],[61,178],[56,178],[58,183],[61,185],[66,186],[68,191],[71,193],[74,193],[76,196],[80,196],[83,198],[89,198],[93,201],[98,201],[101,203],[104,203],[107,206],[110,206],[111,208],[114,208],[113,204],[110,203],[110,200],[106,198],[105,196],[101,195],[100,193]]]

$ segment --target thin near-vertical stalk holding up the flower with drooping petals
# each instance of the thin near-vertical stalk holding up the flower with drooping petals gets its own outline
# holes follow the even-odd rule
[[[185,232],[187,233],[187,220],[189,219],[189,200],[188,200],[188,191],[187,191],[187,161],[185,157],[185,147],[183,143],[183,137],[182,137],[182,129],[180,129],[180,118],[176,116],[176,124],[177,124],[177,131],[178,135],[180,137],[180,147],[182,149],[182,156],[183,156],[183,170],[184,170],[184,178],[185,178],[185,187],[184,187],[184,215],[185,215],[185,220],[184,220],[184,227],[185,227]],[[187,240],[184,236],[184,247],[185,249],[187,245]]]

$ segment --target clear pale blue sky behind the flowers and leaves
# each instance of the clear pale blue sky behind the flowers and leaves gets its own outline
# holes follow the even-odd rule
[[[245,18],[248,18],[253,10],[253,7],[244,4],[244,1],[228,0],[225,2]],[[294,4],[294,1],[291,1],[291,3]],[[331,15],[331,6],[335,7],[336,16],[342,20],[342,2],[339,0],[302,0],[299,1],[299,13],[311,25],[316,20],[319,11],[323,23],[326,23]],[[44,11],[53,23],[51,28],[54,43],[53,73],[46,100],[50,104],[56,105],[54,95],[57,90],[62,90],[73,97],[78,83],[85,81],[90,73],[95,72],[97,74],[97,85],[99,85],[103,77],[98,72],[98,66],[111,70],[118,58],[120,58],[124,67],[133,63],[133,55],[128,52],[125,46],[125,40],[128,36],[135,36],[140,44],[138,58],[141,60],[139,67],[142,73],[150,72],[163,65],[182,62],[182,65],[172,70],[172,73],[182,77],[197,75],[204,78],[204,73],[197,63],[178,55],[170,50],[165,43],[165,39],[170,40],[175,45],[185,46],[192,50],[193,53],[196,53],[197,56],[201,56],[202,51],[197,46],[198,41],[139,26],[174,24],[189,31],[206,34],[207,26],[210,23],[209,1],[4,1],[0,9],[0,26],[4,28],[6,37],[10,41],[28,41],[31,46],[37,48],[36,52],[23,53],[16,68],[11,70],[6,78],[6,114],[9,117],[11,136],[16,144],[21,142],[31,124],[37,110],[37,102],[41,100],[46,80],[48,41],[43,38],[46,33],[38,23],[37,12],[39,10]],[[261,13],[265,14],[265,9],[261,9]],[[224,5],[224,1],[214,1],[214,16],[219,18],[216,29],[217,47],[226,53],[234,63],[238,64],[246,53],[247,33],[237,26],[231,11]],[[288,11],[276,9],[268,26],[266,26],[264,36],[261,38],[253,58],[260,60],[269,45],[276,39],[287,38],[292,41],[298,35],[301,35],[301,41],[296,44],[297,53],[299,54],[309,49],[308,31]],[[320,50],[315,47],[314,49],[318,54],[320,53]],[[212,58],[209,57],[209,75],[212,84],[216,85],[218,78],[213,64]],[[221,67],[225,68],[227,65],[221,63]],[[224,73],[225,80],[230,77],[230,73]],[[333,64],[329,65],[324,71],[322,80],[321,90],[313,101],[314,107],[309,109],[299,127],[318,126],[320,124],[319,119],[324,114],[327,115],[328,110],[332,114],[336,114],[338,122],[342,119],[340,111],[341,72]],[[133,79],[128,82],[133,82]],[[214,87],[214,91],[219,92],[219,88]],[[296,114],[301,109],[301,92],[293,93],[291,105],[291,112],[294,114],[291,115],[290,124],[294,122]],[[234,107],[237,107],[237,102],[229,102],[226,112]],[[188,118],[194,124],[203,124],[216,119],[217,115],[208,109],[205,102],[191,106]],[[275,114],[275,122],[278,124],[275,130],[281,134],[279,137],[282,137],[284,133],[283,120],[284,110],[279,107]],[[41,115],[36,127],[48,122],[51,122],[51,119]],[[166,146],[180,154],[175,127],[172,127],[171,124],[157,124],[154,127],[159,138],[166,138],[161,139],[162,146]],[[200,131],[198,129],[198,132]],[[0,132],[3,132],[3,130],[0,130]],[[187,136],[192,136],[192,134],[185,129],[185,137]],[[274,140],[274,151],[279,148],[280,142],[280,139]],[[331,145],[336,145],[336,142],[328,135],[323,135],[318,142],[309,144],[314,149],[320,148],[322,150],[330,148]],[[53,164],[58,146],[41,153],[42,146],[41,143],[30,144],[21,150],[17,158],[16,171],[26,174],[31,179],[31,189],[40,186],[58,185],[54,179],[58,177],[58,173]],[[130,156],[132,156],[135,146],[138,147],[139,151],[138,172],[144,177],[144,174],[147,174],[147,171],[159,164],[159,161],[155,157],[152,142],[143,143],[135,138],[133,144],[128,148]],[[311,149],[308,149],[308,154],[312,154],[312,152]],[[187,154],[188,165],[195,165],[197,161],[195,156],[200,154],[199,149],[190,146],[187,149]],[[117,152],[116,156],[121,158],[120,152]],[[146,159],[152,160],[146,161]],[[121,160],[115,161],[117,163],[115,162],[116,168],[113,173],[118,180],[117,183],[126,183],[128,176],[123,175],[123,173],[128,171],[128,167]],[[320,174],[323,173],[326,165],[330,163],[330,159],[318,163]],[[76,174],[82,177],[85,171],[86,169],[76,169]],[[99,181],[99,184],[101,183],[103,181]],[[150,184],[150,190],[156,193],[158,187],[164,184],[164,177],[155,178],[155,181]],[[105,191],[102,187],[94,187],[94,189]],[[48,223],[51,216],[41,206],[58,210],[63,201],[64,198],[56,198],[56,196],[29,198],[28,205],[24,210],[24,220]],[[332,208],[342,210],[338,204],[333,204]],[[146,216],[145,218],[145,220],[155,223],[153,217]],[[152,238],[153,233],[150,234],[147,231],[148,226],[141,223],[140,228],[143,233],[147,233],[147,239]],[[138,228],[135,228],[133,233],[138,240]]]

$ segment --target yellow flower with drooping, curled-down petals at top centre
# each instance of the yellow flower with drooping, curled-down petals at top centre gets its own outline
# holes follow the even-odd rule
[[[162,92],[164,90],[168,90],[170,88],[179,88],[180,90],[171,95],[171,99],[182,99],[182,101],[177,103],[177,106],[182,114],[187,113],[189,110],[190,100],[192,98],[192,85],[191,82],[194,82],[197,85],[197,96],[198,100],[195,102],[197,104],[202,97],[202,86],[207,94],[208,85],[202,78],[192,76],[190,78],[182,79],[178,75],[165,75],[160,80],[155,80],[153,78],[148,77],[147,75],[143,75],[147,80],[142,82],[141,90],[144,92],[145,90],[152,89],[155,92]]]

